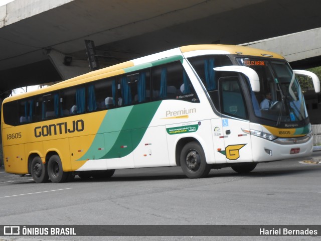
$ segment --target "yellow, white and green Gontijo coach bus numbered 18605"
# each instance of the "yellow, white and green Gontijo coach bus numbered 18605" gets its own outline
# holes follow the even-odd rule
[[[296,74],[320,91],[315,74],[292,70],[276,53],[190,45],[11,96],[2,105],[5,170],[36,183],[171,166],[202,178],[211,169],[248,173],[260,162],[309,156]]]

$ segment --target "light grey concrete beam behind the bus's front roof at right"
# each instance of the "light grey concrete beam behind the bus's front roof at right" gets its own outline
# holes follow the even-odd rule
[[[321,56],[321,28],[240,45],[272,51],[294,62]]]

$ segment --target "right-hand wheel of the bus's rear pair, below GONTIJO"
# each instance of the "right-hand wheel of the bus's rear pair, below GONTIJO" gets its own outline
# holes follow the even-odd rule
[[[63,171],[61,160],[58,155],[53,155],[49,158],[48,175],[50,180],[54,183],[65,182],[67,180],[69,173]]]

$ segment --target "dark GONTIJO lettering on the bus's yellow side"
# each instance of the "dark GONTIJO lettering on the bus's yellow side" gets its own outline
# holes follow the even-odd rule
[[[62,122],[35,128],[35,137],[56,136],[74,132],[82,132],[85,129],[84,121],[78,119],[72,123]]]

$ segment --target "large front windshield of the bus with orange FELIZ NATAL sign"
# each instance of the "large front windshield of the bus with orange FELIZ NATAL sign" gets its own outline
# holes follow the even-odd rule
[[[250,90],[257,117],[276,121],[276,126],[307,118],[300,85],[285,61],[240,57],[237,62],[254,69],[259,76],[260,91]]]

